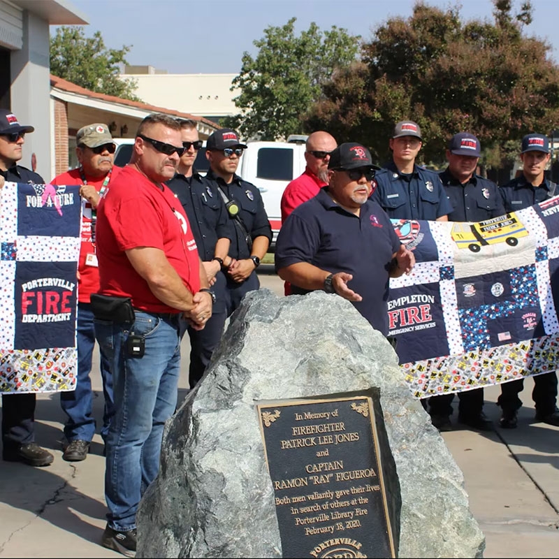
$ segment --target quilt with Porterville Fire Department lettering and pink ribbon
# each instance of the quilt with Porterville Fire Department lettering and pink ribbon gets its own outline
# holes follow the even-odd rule
[[[0,190],[1,394],[75,389],[79,189]]]

